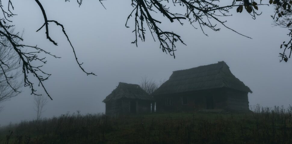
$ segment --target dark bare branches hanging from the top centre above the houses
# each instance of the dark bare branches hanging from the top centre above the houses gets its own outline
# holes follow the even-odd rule
[[[245,10],[252,16],[252,18],[255,19],[256,16],[261,14],[256,12],[256,10],[258,10],[258,5],[264,5],[257,4],[255,0],[234,0],[231,5],[226,6],[219,6],[219,0],[172,0],[172,4],[174,6],[185,7],[184,13],[178,13],[172,12],[170,7],[166,5],[170,5],[170,3],[171,1],[168,0],[132,0],[131,5],[134,9],[126,20],[126,27],[128,28],[128,20],[133,16],[133,14],[135,14],[135,29],[133,30],[133,32],[135,32],[135,41],[132,43],[138,46],[138,39],[145,41],[144,34],[146,30],[144,28],[144,23],[146,23],[146,26],[151,32],[154,41],[156,41],[156,38],[154,37],[154,35],[156,35],[158,41],[160,42],[160,48],[162,51],[166,53],[168,52],[175,58],[175,42],[179,41],[182,44],[185,43],[175,32],[166,32],[159,27],[159,24],[162,23],[161,20],[153,18],[153,15],[157,15],[157,13],[161,13],[163,16],[169,19],[170,22],[174,22],[176,20],[181,25],[183,25],[183,20],[188,20],[191,26],[193,26],[195,29],[197,29],[195,27],[195,24],[197,23],[205,35],[207,34],[204,32],[204,27],[210,28],[213,31],[219,31],[220,28],[217,28],[217,24],[221,24],[225,28],[230,29],[239,35],[250,38],[228,27],[225,24],[226,21],[222,21],[220,19],[224,16],[231,16],[228,13],[233,7],[237,7],[237,12],[239,13],[241,13],[243,8],[245,8]]]

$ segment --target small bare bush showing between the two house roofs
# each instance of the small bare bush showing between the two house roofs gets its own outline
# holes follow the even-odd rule
[[[153,79],[144,76],[140,82],[141,88],[151,95],[159,86]]]

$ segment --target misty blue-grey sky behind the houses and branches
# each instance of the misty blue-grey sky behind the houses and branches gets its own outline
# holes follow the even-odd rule
[[[287,30],[272,27],[273,8],[260,6],[263,13],[253,20],[247,12],[235,13],[226,18],[226,23],[238,32],[250,36],[245,38],[228,29],[219,32],[194,29],[188,22],[181,26],[162,19],[160,27],[181,35],[187,46],[178,44],[176,58],[165,54],[154,42],[149,31],[146,41],[135,40],[134,19],[130,28],[125,27],[126,18],[132,10],[131,1],[84,1],[78,7],[76,1],[42,0],[48,19],[62,23],[71,39],[82,66],[98,76],[86,76],[78,67],[72,49],[62,34],[61,28],[49,25],[50,36],[59,46],[54,46],[45,36],[45,30],[36,30],[43,24],[42,13],[35,1],[15,0],[12,19],[17,31],[24,29],[24,43],[38,45],[62,57],[47,57],[44,70],[52,76],[44,84],[53,98],[45,106],[44,117],[59,116],[80,110],[86,113],[104,113],[102,100],[116,88],[118,82],[139,84],[148,76],[156,82],[168,79],[174,70],[188,69],[200,65],[225,61],[231,72],[253,91],[248,95],[250,105],[281,106],[292,104],[292,63],[279,62],[280,44],[289,40]],[[41,92],[41,91],[39,91]],[[4,104],[0,112],[0,125],[9,122],[36,118],[33,96],[28,87]]]

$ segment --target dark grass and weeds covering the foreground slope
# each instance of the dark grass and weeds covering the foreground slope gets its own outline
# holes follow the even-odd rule
[[[292,143],[292,107],[250,113],[65,114],[0,129],[0,144]]]

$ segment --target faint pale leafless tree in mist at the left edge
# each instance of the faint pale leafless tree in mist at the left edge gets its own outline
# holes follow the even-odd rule
[[[10,32],[14,30],[11,29]],[[15,97],[19,94],[18,89],[22,85],[22,81],[19,79],[19,76],[22,74],[19,68],[19,59],[17,53],[14,51],[11,43],[7,39],[3,39],[0,44],[0,104],[4,101],[10,100],[12,97]],[[11,88],[13,87],[13,88]],[[0,111],[3,106],[0,105]]]

